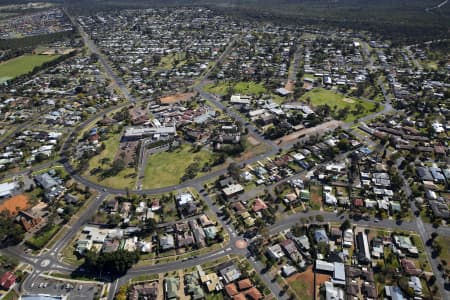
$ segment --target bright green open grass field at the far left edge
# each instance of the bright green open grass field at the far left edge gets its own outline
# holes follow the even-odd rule
[[[22,55],[0,64],[0,83],[31,72],[35,67],[58,58],[59,55]]]

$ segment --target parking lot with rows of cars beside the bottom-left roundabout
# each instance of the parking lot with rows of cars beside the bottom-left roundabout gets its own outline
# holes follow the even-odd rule
[[[64,279],[37,277],[27,290],[31,294],[67,296],[68,299],[94,299],[102,285],[89,282],[72,282]],[[101,296],[101,295],[100,295]]]

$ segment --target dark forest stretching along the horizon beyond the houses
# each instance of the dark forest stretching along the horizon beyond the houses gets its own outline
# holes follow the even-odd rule
[[[0,3],[25,0],[0,0]],[[75,15],[101,10],[167,6],[207,6],[241,20],[324,28],[367,30],[395,43],[449,38],[450,3],[427,12],[439,0],[50,0]],[[1,47],[0,47],[1,48]]]

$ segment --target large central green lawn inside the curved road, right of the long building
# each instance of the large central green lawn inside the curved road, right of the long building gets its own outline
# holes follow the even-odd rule
[[[151,155],[145,170],[143,188],[159,188],[178,184],[187,167],[195,160],[202,168],[211,158],[211,152],[201,150],[194,153],[189,145],[183,145],[172,152],[166,151]]]

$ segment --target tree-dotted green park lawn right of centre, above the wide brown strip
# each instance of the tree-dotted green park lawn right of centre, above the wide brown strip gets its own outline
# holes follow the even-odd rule
[[[308,101],[309,99],[309,101]],[[346,118],[343,120],[345,122],[353,122],[357,118],[364,117],[370,113],[372,113],[375,110],[375,103],[364,101],[361,99],[355,99],[355,98],[349,98],[345,97],[342,94],[336,93],[331,90],[325,90],[321,88],[313,89],[312,91],[307,92],[304,94],[300,100],[305,102],[310,102],[313,106],[319,106],[319,105],[329,105],[331,110],[338,111],[340,109],[343,109],[345,107],[348,107],[350,112],[347,114]],[[352,113],[352,111],[355,110],[357,107],[357,104],[360,103],[363,107],[363,111],[361,114],[355,114]],[[380,105],[377,111],[382,110],[383,107]],[[336,113],[335,113],[336,115]]]

